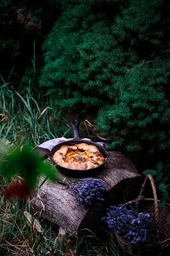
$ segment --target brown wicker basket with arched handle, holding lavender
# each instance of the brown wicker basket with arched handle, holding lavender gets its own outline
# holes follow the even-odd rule
[[[144,190],[148,180],[151,182],[153,199],[144,198]],[[170,204],[165,204],[163,208],[158,207],[156,186],[151,175],[147,175],[144,180],[138,198],[130,201],[129,203],[133,205],[136,202],[139,202],[140,212],[153,213],[153,228],[156,229],[155,240],[153,241],[153,244],[143,244],[141,247],[136,247],[132,244],[128,244],[125,239],[116,235],[119,245],[125,250],[125,252],[130,253],[133,256],[158,255],[159,250],[162,251],[164,248],[167,251],[167,249],[169,249],[168,246],[170,246]]]

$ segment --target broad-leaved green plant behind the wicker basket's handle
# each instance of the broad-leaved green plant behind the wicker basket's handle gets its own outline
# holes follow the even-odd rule
[[[170,196],[170,185],[168,185],[170,183],[170,173],[168,171],[165,171],[163,163],[160,162],[157,164],[156,170],[148,169],[145,170],[143,174],[145,175],[145,177],[149,174],[154,177],[156,187],[159,191],[161,191],[161,200],[159,201],[159,207],[164,207],[167,199],[169,200]]]

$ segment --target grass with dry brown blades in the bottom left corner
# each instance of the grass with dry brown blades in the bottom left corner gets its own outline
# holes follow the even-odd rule
[[[44,226],[44,233],[33,230],[26,224],[23,212],[29,202],[19,205],[17,201],[0,201],[0,255],[46,255],[58,250],[51,235],[51,224]]]

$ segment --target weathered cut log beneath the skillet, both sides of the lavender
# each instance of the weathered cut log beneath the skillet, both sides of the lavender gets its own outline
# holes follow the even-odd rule
[[[118,192],[125,195],[133,192],[133,186],[141,185],[141,175],[133,163],[120,152],[111,152],[105,168],[95,176],[104,181],[108,196],[114,198]],[[41,180],[42,181],[42,180]],[[41,182],[40,181],[40,182]],[[34,201],[34,209],[41,213],[41,216],[57,222],[67,233],[77,233],[82,229],[90,229],[92,225],[101,219],[102,203],[87,208],[77,206],[73,192],[59,183],[45,183],[38,189],[40,199]],[[43,210],[42,204],[45,207]]]

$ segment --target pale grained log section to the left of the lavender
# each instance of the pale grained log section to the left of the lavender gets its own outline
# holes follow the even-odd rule
[[[42,181],[43,178],[40,179],[40,183]],[[44,218],[57,222],[59,227],[69,234],[77,233],[99,221],[102,204],[97,203],[91,208],[77,206],[72,191],[65,185],[46,180],[38,189],[38,195],[45,206],[45,211],[42,210],[39,199],[34,202],[35,211],[41,212]]]

